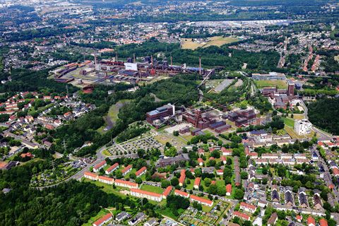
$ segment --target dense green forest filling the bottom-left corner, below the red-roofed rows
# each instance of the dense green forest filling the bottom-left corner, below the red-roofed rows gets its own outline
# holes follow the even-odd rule
[[[71,181],[42,191],[29,189],[32,171],[40,172],[49,165],[47,161],[29,162],[0,171],[0,189],[12,189],[0,194],[0,225],[83,225],[101,208],[135,208],[129,198],[107,194],[90,183]]]

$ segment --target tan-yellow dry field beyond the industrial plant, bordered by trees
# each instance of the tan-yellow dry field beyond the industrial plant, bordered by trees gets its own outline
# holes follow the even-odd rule
[[[217,47],[222,46],[222,44],[228,44],[232,42],[237,42],[239,39],[236,37],[222,37],[222,36],[215,36],[209,37],[206,42],[193,42],[191,38],[183,38],[182,39],[182,49],[197,49],[198,47],[210,47],[215,45]]]

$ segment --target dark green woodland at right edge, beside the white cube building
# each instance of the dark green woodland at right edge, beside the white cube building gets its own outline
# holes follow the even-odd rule
[[[309,121],[328,132],[339,135],[339,99],[324,98],[308,106]]]

